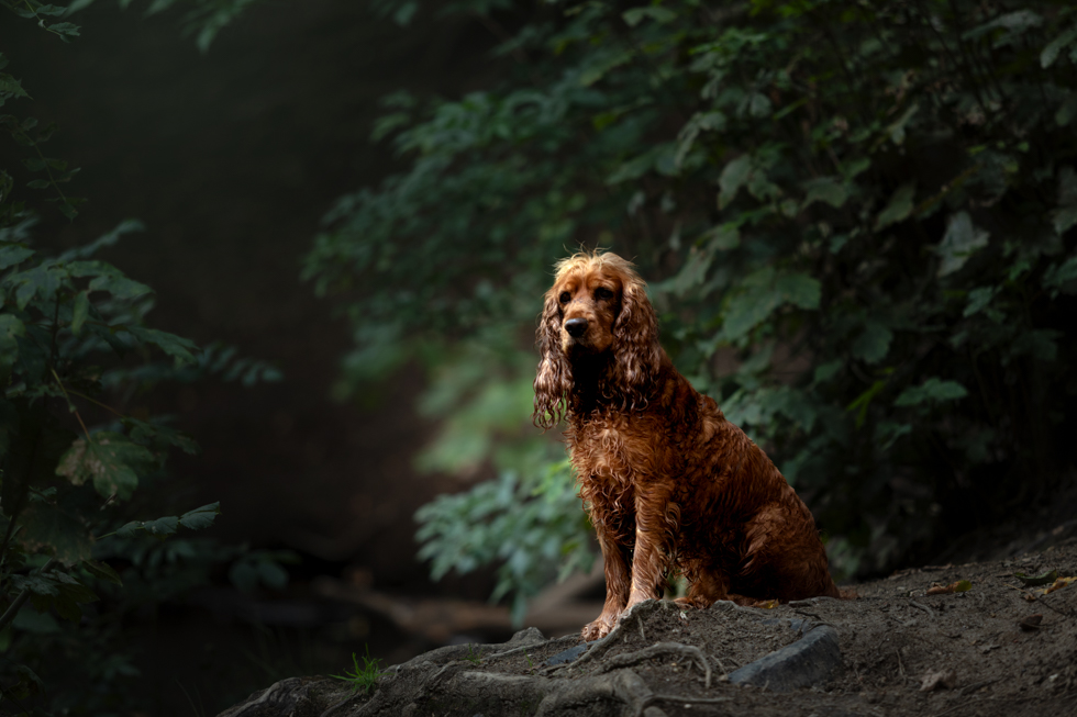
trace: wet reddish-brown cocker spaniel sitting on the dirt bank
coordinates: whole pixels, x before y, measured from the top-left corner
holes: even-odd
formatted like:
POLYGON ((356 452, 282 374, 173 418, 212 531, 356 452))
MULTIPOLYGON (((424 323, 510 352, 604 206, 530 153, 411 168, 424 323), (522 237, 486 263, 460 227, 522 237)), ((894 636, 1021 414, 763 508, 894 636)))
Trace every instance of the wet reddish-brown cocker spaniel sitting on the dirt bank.
POLYGON ((645 284, 615 254, 557 265, 537 332, 534 421, 568 421, 580 497, 606 561, 607 635, 681 572, 680 602, 839 597, 815 522, 766 453, 677 372, 645 284))

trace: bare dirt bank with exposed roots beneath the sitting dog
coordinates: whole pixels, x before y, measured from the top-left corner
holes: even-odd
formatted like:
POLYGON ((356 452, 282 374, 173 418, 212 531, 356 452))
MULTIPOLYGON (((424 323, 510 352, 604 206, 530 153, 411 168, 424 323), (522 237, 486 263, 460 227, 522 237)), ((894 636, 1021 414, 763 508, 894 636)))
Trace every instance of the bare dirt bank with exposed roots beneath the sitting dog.
POLYGON ((577 639, 547 640, 531 629, 504 645, 428 652, 387 671, 370 695, 337 681, 293 680, 222 717, 1074 714, 1077 582, 1047 593, 1050 584, 1018 576, 1052 571, 1051 580, 1077 575, 1077 537, 1020 558, 900 571, 857 585, 848 601, 722 602, 706 610, 654 603, 622 620, 602 649, 568 664, 547 660, 577 639), (958 581, 968 590, 929 594, 958 581), (800 632, 790 625, 803 619, 837 631, 843 669, 834 679, 785 694, 726 681, 796 642, 800 632))

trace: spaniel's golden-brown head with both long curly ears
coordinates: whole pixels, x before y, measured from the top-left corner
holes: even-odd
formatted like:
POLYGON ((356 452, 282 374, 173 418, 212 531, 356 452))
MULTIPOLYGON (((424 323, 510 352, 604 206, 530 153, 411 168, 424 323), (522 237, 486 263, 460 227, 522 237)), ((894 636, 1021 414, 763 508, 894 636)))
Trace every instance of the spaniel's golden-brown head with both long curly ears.
POLYGON ((603 385, 596 386, 601 395, 624 407, 642 405, 660 351, 646 284, 615 254, 577 254, 556 271, 537 331, 535 424, 549 428, 564 416, 566 394, 576 389, 573 365, 580 361, 606 359, 603 385))

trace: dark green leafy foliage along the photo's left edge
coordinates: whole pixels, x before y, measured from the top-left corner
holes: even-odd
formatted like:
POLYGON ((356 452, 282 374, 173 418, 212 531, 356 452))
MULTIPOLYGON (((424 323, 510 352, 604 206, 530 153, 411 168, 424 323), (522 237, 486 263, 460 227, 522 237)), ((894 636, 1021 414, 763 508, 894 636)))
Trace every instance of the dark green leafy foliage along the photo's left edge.
MULTIPOLYGON (((78 35, 49 20, 68 9, 0 4, 62 40, 78 35)), ((0 72, 0 104, 29 98, 0 72)), ((165 380, 251 384, 279 373, 147 325, 152 290, 95 258, 138 222, 57 256, 35 248, 34 192, 49 190, 41 203, 75 219, 81 200, 62 184, 77 170, 42 153, 52 126, 8 114, 0 126, 27 150, 25 169, 45 177, 26 183, 30 201, 13 201, 16 182, 0 170, 0 703, 19 714, 131 712, 123 680, 138 670, 126 617, 206 584, 220 564, 231 563, 237 587, 279 587, 279 563, 293 559, 182 535, 210 527, 216 503, 144 519, 160 509, 169 451, 198 447, 138 401, 165 380)))

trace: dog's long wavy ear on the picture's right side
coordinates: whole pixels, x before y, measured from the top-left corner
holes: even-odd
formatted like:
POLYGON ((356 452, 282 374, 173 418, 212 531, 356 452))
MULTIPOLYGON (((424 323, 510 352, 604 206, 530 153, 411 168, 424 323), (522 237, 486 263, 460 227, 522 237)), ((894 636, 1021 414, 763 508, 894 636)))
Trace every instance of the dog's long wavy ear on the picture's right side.
POLYGON ((623 277, 621 312, 613 324, 612 379, 625 407, 646 405, 646 390, 658 371, 660 358, 658 317, 647 299, 645 284, 634 276, 623 277))

